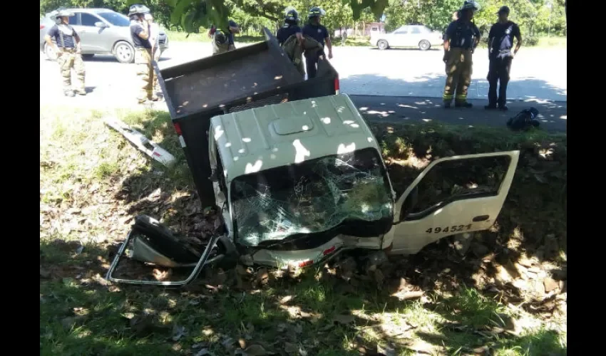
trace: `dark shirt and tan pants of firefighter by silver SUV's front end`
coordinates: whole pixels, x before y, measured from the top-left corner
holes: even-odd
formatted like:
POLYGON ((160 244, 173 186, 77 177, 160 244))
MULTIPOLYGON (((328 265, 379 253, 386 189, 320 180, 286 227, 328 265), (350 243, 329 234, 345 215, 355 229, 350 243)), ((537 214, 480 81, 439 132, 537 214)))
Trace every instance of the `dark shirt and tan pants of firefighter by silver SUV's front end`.
MULTIPOLYGON (((143 103, 145 100, 158 100, 153 93, 153 57, 152 46, 149 40, 139 37, 143 31, 143 24, 138 21, 130 21, 130 37, 135 46, 135 65, 137 66, 137 76, 140 79, 140 92, 137 100, 143 103)), ((147 33, 150 33, 148 26, 147 33)))

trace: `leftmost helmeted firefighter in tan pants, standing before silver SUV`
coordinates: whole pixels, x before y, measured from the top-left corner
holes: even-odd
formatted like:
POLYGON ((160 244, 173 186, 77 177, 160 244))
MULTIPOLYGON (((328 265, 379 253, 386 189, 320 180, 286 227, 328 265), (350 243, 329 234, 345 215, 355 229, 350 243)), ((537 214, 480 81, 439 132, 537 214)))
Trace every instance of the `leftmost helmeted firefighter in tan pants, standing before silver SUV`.
POLYGON ((58 9, 53 11, 49 16, 56 23, 48 30, 44 40, 46 46, 51 46, 57 53, 57 62, 61 68, 61 77, 63 77, 63 94, 68 97, 73 97, 74 93, 71 88, 71 69, 76 72, 76 93, 86 95, 84 88, 84 62, 82 61, 82 49, 80 36, 76 30, 69 25, 69 18, 74 16, 73 12, 66 9, 58 9), (53 43, 53 38, 56 45, 53 43))

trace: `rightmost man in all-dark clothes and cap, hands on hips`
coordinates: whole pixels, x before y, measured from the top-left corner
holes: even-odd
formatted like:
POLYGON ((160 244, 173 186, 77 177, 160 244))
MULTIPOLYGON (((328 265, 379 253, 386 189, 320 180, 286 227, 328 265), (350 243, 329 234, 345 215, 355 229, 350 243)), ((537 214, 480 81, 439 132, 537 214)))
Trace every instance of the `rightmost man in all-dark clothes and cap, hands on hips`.
POLYGON ((511 70, 511 61, 520 51, 522 46, 522 35, 520 27, 512 21, 509 21, 509 8, 501 6, 497 12, 498 22, 491 27, 488 33, 488 105, 486 110, 507 111, 507 83, 509 83, 509 72, 511 70), (513 38, 518 43, 513 52, 513 38), (498 98, 497 98, 497 82, 498 98))

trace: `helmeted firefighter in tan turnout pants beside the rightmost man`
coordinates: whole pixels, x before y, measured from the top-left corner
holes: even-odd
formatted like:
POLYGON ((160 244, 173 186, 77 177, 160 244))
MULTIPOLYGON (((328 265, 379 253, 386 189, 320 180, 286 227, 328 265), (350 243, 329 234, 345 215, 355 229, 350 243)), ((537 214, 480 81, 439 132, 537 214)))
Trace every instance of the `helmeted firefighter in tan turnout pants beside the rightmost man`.
POLYGON ((451 107, 453 96, 456 108, 473 107, 467 102, 467 89, 471 84, 471 55, 480 41, 480 30, 471 21, 473 13, 478 9, 476 1, 466 0, 459 9, 459 19, 452 21, 446 28, 443 58, 446 63, 446 85, 442 96, 444 108, 451 107))

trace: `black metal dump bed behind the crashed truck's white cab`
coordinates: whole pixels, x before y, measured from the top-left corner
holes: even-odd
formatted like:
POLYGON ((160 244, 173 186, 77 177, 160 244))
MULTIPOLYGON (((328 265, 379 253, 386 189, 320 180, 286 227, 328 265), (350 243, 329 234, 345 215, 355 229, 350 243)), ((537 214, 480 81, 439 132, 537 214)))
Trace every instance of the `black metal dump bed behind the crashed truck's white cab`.
POLYGON ((202 206, 215 205, 208 152, 212 117, 338 93, 339 75, 329 61, 319 61, 317 77, 304 80, 272 33, 264 32, 262 43, 155 68, 202 206))

